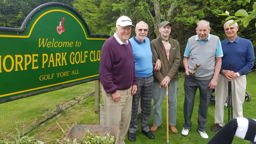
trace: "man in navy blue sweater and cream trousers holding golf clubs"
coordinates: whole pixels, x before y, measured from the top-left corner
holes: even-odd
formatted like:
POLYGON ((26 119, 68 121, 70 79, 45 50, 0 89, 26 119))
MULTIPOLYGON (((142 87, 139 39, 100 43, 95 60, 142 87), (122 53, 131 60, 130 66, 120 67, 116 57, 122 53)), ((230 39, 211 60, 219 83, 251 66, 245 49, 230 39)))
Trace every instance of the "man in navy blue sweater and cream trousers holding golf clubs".
POLYGON ((227 39, 221 41, 223 57, 215 88, 215 124, 212 131, 219 131, 223 126, 224 104, 228 97, 228 82, 232 81, 232 105, 233 117, 243 117, 243 102, 245 98, 246 77, 245 74, 252 69, 254 64, 254 52, 250 40, 237 36, 237 23, 229 26, 234 20, 224 24, 227 39), (232 71, 229 70, 232 64, 232 71))

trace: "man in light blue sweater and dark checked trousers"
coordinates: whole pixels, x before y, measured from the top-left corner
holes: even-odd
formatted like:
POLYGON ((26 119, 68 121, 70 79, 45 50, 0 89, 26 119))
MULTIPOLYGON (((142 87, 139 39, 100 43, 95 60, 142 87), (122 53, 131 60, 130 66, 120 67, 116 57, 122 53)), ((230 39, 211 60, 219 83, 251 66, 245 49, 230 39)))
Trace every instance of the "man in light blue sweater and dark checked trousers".
MULTIPOLYGON (((138 127, 138 106, 141 106, 141 132, 148 138, 154 139, 155 136, 149 130, 149 118, 151 115, 151 100, 153 94, 153 64, 152 52, 150 49, 148 34, 148 24, 140 21, 136 24, 135 33, 130 40, 135 62, 135 72, 139 85, 137 92, 132 97, 132 116, 129 125, 128 140, 135 141, 135 133, 138 127)), ((154 70, 161 68, 160 60, 157 61, 154 70)))

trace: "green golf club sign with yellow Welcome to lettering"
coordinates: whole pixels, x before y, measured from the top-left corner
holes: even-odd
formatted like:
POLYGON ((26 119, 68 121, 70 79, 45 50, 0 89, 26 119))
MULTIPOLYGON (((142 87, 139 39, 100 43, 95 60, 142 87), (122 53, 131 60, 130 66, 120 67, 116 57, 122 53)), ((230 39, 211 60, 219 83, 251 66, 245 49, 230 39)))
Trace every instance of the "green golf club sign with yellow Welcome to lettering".
POLYGON ((99 77, 107 38, 61 3, 37 7, 21 28, 1 27, 0 100, 99 77))

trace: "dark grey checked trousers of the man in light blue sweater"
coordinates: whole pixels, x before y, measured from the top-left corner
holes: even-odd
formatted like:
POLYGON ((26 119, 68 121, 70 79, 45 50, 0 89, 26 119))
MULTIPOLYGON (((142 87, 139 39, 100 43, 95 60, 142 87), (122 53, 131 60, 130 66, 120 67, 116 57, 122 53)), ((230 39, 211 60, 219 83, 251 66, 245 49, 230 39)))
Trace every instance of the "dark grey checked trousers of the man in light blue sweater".
POLYGON ((151 115, 151 101, 153 92, 153 75, 148 77, 137 77, 139 85, 137 92, 132 97, 132 116, 129 125, 129 132, 136 133, 138 128, 138 107, 140 101, 141 107, 141 130, 144 132, 149 131, 149 118, 151 115))

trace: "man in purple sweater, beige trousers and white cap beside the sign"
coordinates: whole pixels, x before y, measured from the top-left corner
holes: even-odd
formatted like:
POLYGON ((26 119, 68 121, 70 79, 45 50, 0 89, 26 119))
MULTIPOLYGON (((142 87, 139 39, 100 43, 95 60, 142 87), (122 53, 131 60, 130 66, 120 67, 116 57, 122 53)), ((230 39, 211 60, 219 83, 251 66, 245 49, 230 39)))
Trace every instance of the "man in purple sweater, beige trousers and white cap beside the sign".
MULTIPOLYGON (((131 35, 132 20, 121 16, 116 21, 116 33, 102 46, 100 57, 100 81, 102 99, 108 125, 120 129, 118 144, 124 144, 132 113, 132 95, 137 92, 131 35)), ((134 27, 135 28, 135 27, 134 27)))

